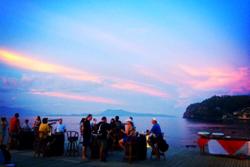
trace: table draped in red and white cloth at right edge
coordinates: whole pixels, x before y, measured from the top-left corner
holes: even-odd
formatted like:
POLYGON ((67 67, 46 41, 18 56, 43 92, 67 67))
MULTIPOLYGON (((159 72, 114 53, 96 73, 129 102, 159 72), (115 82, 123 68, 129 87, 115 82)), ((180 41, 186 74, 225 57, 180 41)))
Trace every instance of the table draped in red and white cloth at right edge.
POLYGON ((250 140, 241 138, 226 138, 214 136, 199 136, 198 145, 201 152, 205 152, 205 146, 209 154, 250 156, 250 140))

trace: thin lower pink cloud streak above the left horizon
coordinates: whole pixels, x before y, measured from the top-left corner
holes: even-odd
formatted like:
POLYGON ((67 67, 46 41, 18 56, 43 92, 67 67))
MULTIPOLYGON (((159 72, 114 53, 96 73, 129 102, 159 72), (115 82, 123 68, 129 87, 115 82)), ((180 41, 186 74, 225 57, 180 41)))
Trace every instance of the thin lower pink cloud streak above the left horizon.
POLYGON ((70 93, 64 93, 64 92, 48 92, 48 91, 31 90, 30 93, 34 95, 50 96, 50 97, 56 97, 56 98, 62 98, 62 99, 77 100, 77 101, 82 101, 82 102, 94 102, 94 103, 104 103, 104 104, 114 104, 114 105, 121 104, 120 102, 117 102, 112 99, 104 98, 104 97, 81 96, 77 94, 70 94, 70 93))

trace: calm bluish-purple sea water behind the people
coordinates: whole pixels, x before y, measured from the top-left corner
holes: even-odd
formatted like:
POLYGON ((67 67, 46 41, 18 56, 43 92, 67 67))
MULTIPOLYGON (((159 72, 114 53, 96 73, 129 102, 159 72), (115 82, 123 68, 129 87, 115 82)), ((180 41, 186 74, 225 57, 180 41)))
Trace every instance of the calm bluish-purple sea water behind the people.
MULTIPOLYGON (((59 117, 49 117, 49 119, 57 119, 59 117)), ((66 125, 67 130, 79 131, 79 125, 81 117, 79 116, 64 116, 61 117, 63 123, 66 125)), ((97 121, 100 120, 100 117, 97 121)), ((31 123, 34 118, 30 117, 31 123)), ((126 120, 127 117, 120 117, 121 121, 126 120)), ((145 132, 147 129, 151 129, 151 117, 134 117, 134 123, 138 132, 145 132)), ((109 122, 110 118, 108 118, 109 122)), ((198 131, 210 131, 210 132, 223 132, 225 135, 236 137, 249 137, 250 125, 249 123, 204 123, 194 122, 183 118, 157 118, 164 137, 167 139, 170 145, 182 146, 187 144, 196 144, 198 131)))

